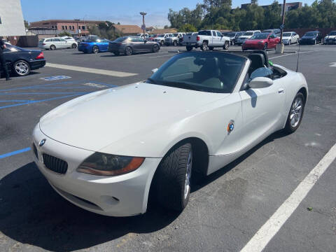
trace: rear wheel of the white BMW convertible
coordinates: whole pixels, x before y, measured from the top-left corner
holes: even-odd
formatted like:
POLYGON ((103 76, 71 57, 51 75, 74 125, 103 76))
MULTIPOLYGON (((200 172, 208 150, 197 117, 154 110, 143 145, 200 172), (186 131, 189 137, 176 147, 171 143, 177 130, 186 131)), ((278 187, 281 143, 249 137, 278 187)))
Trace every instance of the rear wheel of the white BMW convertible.
POLYGON ((304 95, 301 92, 298 92, 295 95, 295 98, 293 99, 292 105, 290 106, 286 126, 284 128, 286 132, 291 134, 295 132, 295 130, 297 130, 297 128, 300 126, 304 112, 304 105, 305 105, 304 95), (301 104, 298 104, 298 101, 300 101, 301 104))

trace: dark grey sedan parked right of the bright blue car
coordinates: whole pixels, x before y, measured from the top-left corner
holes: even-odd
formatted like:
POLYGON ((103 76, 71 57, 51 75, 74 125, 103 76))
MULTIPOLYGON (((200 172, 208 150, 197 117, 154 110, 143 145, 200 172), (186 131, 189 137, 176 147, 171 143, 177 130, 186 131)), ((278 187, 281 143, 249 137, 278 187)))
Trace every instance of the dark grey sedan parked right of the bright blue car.
POLYGON ((158 52, 159 50, 159 43, 146 41, 136 36, 123 36, 109 43, 109 52, 115 55, 120 55, 120 53, 132 55, 135 52, 158 52))

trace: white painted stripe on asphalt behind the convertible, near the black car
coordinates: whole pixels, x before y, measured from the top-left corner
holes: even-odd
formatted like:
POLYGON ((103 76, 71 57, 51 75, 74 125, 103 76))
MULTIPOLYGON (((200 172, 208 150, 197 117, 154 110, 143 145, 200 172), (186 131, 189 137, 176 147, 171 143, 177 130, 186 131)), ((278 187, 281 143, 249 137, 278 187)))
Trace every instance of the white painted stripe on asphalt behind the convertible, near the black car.
POLYGON ((138 74, 138 73, 126 73, 126 72, 122 72, 122 71, 92 69, 92 68, 82 67, 82 66, 69 66, 69 65, 64 65, 64 64, 53 64, 53 63, 47 63, 47 64, 45 64, 45 66, 55 67, 55 68, 58 68, 58 69, 82 71, 82 72, 85 72, 85 73, 96 73, 96 74, 102 74, 102 75, 107 75, 107 76, 115 76, 115 77, 136 76, 138 74))

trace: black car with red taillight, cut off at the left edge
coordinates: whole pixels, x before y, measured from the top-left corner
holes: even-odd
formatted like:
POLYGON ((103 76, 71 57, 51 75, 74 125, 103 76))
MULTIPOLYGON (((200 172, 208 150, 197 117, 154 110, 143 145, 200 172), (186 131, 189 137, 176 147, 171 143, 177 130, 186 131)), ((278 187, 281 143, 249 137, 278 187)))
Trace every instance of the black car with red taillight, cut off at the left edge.
POLYGON ((15 73, 17 76, 27 76, 31 70, 45 66, 45 59, 41 50, 25 50, 6 43, 3 55, 8 71, 15 73))

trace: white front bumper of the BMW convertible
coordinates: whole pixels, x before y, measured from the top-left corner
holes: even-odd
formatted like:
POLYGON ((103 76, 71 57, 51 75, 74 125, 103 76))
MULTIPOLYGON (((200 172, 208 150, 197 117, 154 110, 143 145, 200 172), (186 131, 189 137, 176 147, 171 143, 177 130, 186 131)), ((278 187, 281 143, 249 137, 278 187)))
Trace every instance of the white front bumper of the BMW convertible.
POLYGON ((34 128, 33 143, 37 149, 38 158, 33 156, 38 169, 52 188, 69 202, 106 216, 134 216, 146 212, 151 181, 161 158, 146 158, 141 167, 128 174, 94 176, 76 172, 80 163, 94 152, 50 139, 41 132, 39 125, 34 128), (38 146, 42 139, 46 139, 45 144, 38 146), (45 167, 43 153, 66 161, 66 173, 57 174, 45 167))

